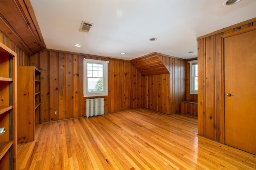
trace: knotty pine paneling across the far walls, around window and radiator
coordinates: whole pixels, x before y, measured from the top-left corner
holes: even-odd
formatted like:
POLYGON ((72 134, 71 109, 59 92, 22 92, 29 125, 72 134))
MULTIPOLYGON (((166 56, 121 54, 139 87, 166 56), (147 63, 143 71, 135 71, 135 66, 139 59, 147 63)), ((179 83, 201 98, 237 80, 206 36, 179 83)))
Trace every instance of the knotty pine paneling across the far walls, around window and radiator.
POLYGON ((186 61, 160 57, 171 74, 142 76, 130 61, 63 51, 44 50, 31 56, 30 64, 42 70, 42 122, 85 114, 84 58, 109 61, 105 113, 140 107, 166 114, 180 113, 180 101, 185 99, 186 91, 186 61))

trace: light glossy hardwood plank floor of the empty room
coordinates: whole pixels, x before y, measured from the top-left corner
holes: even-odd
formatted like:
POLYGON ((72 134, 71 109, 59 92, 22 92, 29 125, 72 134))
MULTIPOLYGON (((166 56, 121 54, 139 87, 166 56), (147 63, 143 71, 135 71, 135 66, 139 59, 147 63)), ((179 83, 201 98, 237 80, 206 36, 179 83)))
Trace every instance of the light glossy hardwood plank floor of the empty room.
POLYGON ((197 136, 197 118, 132 109, 36 125, 18 169, 256 169, 256 155, 197 136))

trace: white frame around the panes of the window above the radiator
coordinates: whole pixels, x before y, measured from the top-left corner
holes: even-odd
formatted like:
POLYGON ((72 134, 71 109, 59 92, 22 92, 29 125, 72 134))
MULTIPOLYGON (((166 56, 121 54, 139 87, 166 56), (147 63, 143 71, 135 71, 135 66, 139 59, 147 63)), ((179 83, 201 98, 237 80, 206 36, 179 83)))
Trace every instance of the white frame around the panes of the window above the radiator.
POLYGON ((108 96, 108 61, 84 58, 84 97, 108 96), (88 92, 87 63, 103 64, 103 92, 88 92))

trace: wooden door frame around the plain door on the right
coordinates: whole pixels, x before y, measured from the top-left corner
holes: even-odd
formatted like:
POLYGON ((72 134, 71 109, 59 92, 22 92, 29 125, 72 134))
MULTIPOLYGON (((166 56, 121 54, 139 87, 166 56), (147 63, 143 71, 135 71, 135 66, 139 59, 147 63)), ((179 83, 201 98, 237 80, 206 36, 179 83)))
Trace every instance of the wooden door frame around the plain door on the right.
POLYGON ((227 33, 227 34, 223 34, 220 36, 221 38, 221 81, 220 81, 220 91, 221 91, 221 96, 220 96, 220 143, 222 144, 226 144, 225 141, 225 75, 224 75, 224 39, 228 38, 228 37, 232 37, 234 35, 239 35, 242 33, 246 33, 249 31, 253 31, 256 29, 256 25, 250 26, 250 27, 246 27, 244 29, 239 29, 237 31, 233 31, 231 33, 227 33))

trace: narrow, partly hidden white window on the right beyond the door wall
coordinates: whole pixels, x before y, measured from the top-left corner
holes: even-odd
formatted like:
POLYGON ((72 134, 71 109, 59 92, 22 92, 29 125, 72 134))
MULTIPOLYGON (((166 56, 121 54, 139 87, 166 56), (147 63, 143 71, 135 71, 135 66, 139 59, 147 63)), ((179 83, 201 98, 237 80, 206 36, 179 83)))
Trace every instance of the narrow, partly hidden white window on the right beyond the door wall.
POLYGON ((189 62, 190 65, 190 94, 197 94, 198 91, 198 64, 197 60, 189 62))

